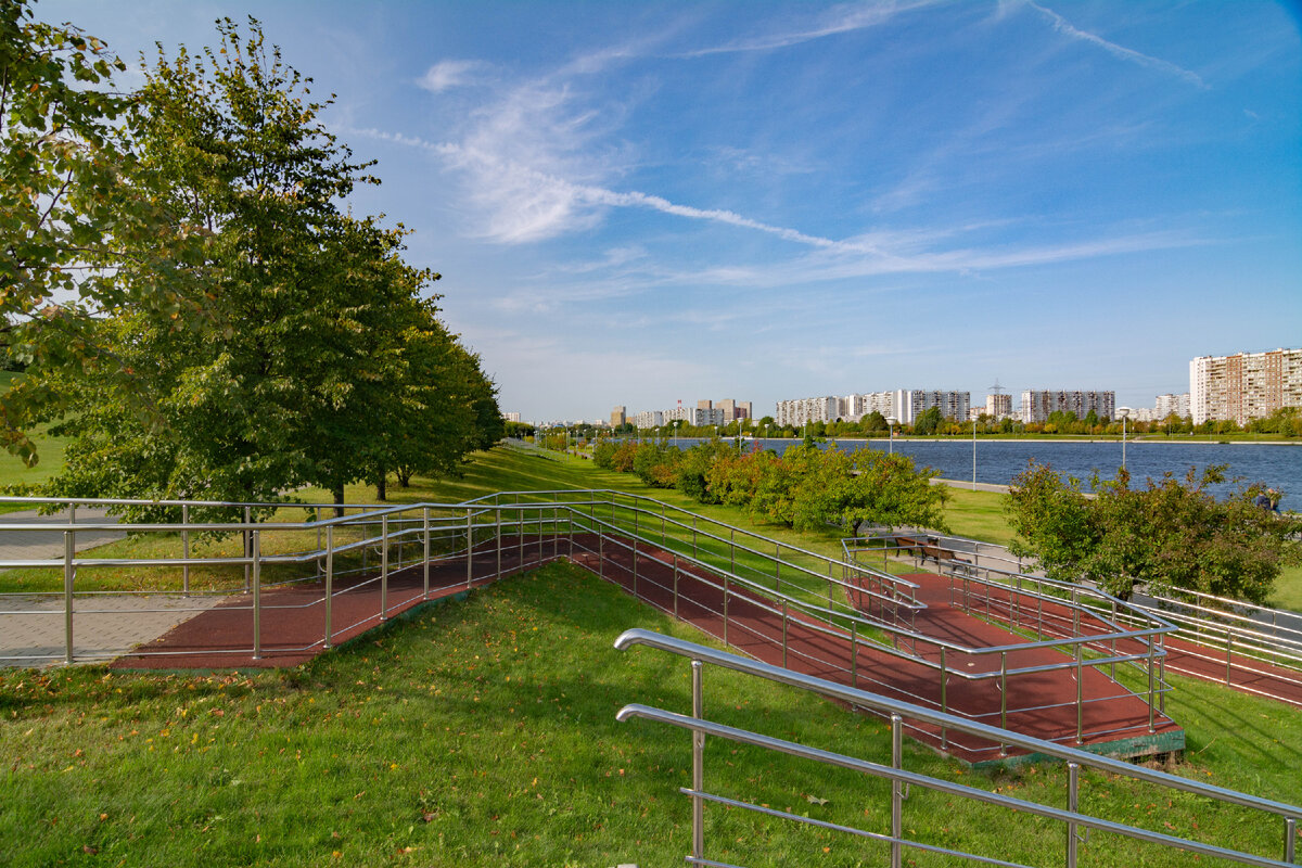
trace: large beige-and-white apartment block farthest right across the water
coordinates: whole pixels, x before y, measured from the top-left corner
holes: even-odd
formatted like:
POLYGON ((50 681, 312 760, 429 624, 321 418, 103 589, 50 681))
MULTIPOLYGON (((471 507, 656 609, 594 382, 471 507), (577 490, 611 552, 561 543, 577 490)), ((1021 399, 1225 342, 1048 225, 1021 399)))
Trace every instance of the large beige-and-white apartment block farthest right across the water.
POLYGON ((1298 406, 1302 349, 1203 355, 1189 363, 1189 413, 1195 426, 1208 419, 1245 424, 1298 406))

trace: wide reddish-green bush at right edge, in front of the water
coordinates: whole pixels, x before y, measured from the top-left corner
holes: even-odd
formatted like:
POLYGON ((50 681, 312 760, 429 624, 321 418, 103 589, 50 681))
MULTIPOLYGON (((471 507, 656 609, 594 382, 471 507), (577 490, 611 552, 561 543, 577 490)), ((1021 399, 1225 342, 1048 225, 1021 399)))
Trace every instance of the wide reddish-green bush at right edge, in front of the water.
POLYGON ((1083 578, 1121 599, 1146 586, 1266 603, 1281 570, 1302 562, 1302 522, 1255 505, 1259 485, 1217 500, 1207 488, 1225 481, 1224 471, 1190 468, 1184 479, 1131 487, 1122 468, 1112 481, 1094 480, 1098 493, 1087 497, 1079 480, 1032 462, 1009 491, 1010 549, 1052 579, 1083 578))

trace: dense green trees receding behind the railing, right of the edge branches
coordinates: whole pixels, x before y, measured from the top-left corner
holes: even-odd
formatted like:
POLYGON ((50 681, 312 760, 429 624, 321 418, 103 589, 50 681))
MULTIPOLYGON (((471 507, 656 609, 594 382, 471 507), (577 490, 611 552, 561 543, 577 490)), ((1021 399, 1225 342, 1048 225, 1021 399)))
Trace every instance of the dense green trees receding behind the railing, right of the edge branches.
POLYGON ((421 301, 437 276, 402 260, 401 229, 341 212, 366 167, 256 22, 247 35, 220 22, 219 35, 147 70, 138 172, 174 219, 121 268, 133 285, 202 292, 202 315, 109 311, 96 337, 116 364, 64 384, 78 440, 52 488, 268 501, 318 484, 341 498, 350 481, 445 467, 500 413, 478 360, 421 301), (150 400, 122 400, 118 371, 150 400))

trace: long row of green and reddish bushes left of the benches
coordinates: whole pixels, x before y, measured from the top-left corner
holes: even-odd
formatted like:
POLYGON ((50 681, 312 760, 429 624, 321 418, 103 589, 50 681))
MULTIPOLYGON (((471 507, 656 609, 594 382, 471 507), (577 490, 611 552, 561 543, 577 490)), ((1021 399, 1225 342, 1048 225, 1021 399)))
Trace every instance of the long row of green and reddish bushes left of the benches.
POLYGON ((686 450, 664 441, 603 440, 592 457, 599 467, 637 474, 648 485, 677 488, 702 504, 740 506, 754 518, 796 530, 828 524, 852 535, 866 524, 947 530, 948 491, 931 484, 934 470, 914 467, 904 454, 845 453, 806 442, 779 457, 773 450, 741 452, 723 440, 686 450))

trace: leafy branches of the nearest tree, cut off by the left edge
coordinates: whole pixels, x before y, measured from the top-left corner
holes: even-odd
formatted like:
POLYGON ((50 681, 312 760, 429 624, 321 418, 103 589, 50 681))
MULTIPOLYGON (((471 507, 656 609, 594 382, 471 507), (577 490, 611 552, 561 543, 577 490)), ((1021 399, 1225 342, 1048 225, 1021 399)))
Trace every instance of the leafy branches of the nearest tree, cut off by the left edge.
POLYGON ((203 301, 184 284, 120 278, 130 249, 152 255, 167 221, 137 174, 134 100, 112 83, 122 69, 95 36, 0 0, 0 320, 7 354, 30 373, 0 396, 0 440, 29 463, 23 429, 65 401, 46 375, 111 363, 96 315, 128 301, 165 315, 203 301))

